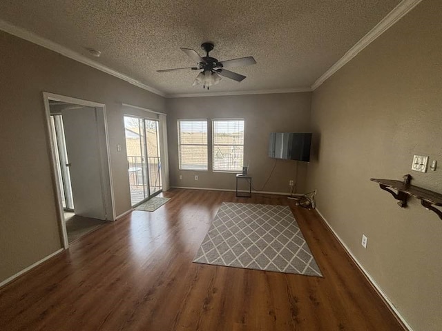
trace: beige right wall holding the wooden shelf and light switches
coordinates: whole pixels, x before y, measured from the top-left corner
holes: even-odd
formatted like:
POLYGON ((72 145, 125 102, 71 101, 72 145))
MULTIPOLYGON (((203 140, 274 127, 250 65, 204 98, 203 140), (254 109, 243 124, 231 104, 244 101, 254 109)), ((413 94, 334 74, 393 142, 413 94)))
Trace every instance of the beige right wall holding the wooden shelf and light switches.
POLYGON ((318 209, 416 331, 442 330, 442 220, 369 179, 410 173, 442 192, 442 168, 410 169, 413 154, 442 165, 441 17, 441 1, 423 1, 312 97, 318 209))

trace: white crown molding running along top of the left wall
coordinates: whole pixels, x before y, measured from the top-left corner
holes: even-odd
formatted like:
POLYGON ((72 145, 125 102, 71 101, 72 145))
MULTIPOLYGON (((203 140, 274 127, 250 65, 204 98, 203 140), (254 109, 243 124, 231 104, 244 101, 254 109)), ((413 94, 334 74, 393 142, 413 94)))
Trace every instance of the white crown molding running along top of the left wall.
POLYGON ((138 88, 142 88, 143 90, 158 94, 162 97, 166 96, 164 92, 161 92, 160 90, 157 90, 155 88, 151 88, 151 86, 147 86, 146 84, 141 83, 136 79, 128 77, 126 74, 122 74, 121 72, 118 72, 107 66, 104 66, 101 63, 98 63, 97 61, 93 61, 92 59, 89 59, 84 55, 81 55, 73 50, 70 50, 69 48, 61 46, 59 43, 55 43, 53 41, 50 41, 49 39, 40 37, 33 32, 30 32, 23 28, 19 28, 18 26, 15 26, 7 21, 3 21, 2 19, 0 19, 0 30, 8 32, 9 34, 13 34, 21 39, 30 41, 31 43, 36 43, 37 45, 42 46, 44 48, 48 48, 48 50, 52 50, 61 55, 64 55, 65 57, 86 64, 86 66, 90 66, 102 72, 106 72, 106 74, 111 74, 112 76, 122 79, 123 81, 127 81, 128 83, 131 83, 132 85, 137 86, 138 88))

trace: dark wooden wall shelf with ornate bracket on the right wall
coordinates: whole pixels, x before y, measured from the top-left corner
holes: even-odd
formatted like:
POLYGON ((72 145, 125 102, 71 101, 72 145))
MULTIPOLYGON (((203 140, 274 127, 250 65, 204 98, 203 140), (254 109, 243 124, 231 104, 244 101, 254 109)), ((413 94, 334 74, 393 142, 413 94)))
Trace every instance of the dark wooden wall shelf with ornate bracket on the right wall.
POLYGON ((394 199, 398 200, 398 205, 402 208, 407 207, 408 197, 415 197, 416 199, 421 200, 421 204, 425 208, 432 210, 432 212, 435 212, 439 218, 442 219, 442 210, 434 207, 434 205, 442 206, 442 194, 411 185, 410 181, 412 177, 410 174, 405 174, 403 179, 403 181, 396 181, 394 179, 372 178, 370 181, 378 183, 381 189, 392 194, 394 199), (391 189, 396 190, 397 193, 391 189))

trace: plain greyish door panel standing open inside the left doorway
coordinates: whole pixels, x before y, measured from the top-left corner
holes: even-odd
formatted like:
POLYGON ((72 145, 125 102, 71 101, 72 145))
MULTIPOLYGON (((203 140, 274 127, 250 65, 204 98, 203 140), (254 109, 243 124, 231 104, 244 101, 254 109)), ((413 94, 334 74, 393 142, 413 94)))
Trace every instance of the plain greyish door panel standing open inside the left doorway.
POLYGON ((74 212, 106 219, 100 160, 97 110, 91 107, 62 110, 74 212))

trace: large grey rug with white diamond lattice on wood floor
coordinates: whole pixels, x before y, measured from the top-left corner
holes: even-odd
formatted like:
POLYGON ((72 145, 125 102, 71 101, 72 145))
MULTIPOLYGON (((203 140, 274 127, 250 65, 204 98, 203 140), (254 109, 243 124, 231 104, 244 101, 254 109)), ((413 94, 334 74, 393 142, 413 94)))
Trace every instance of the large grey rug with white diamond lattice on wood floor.
POLYGON ((287 205, 223 202, 193 262, 322 277, 287 205))

